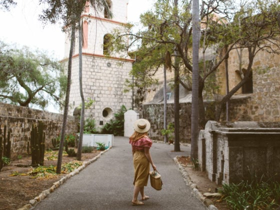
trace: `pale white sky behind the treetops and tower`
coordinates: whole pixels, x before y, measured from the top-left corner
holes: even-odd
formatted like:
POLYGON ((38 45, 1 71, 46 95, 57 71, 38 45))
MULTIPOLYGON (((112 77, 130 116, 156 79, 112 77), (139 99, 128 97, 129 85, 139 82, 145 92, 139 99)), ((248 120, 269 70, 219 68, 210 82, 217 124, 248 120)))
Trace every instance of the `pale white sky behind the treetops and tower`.
MULTIPOLYGON (((44 28, 38 20, 41 11, 38 0, 15 0, 17 5, 10 11, 0 10, 0 40, 31 48, 39 48, 63 58, 64 33, 59 25, 47 24, 44 28)), ((138 22, 139 15, 151 8, 155 0, 129 0, 128 21, 138 22)))

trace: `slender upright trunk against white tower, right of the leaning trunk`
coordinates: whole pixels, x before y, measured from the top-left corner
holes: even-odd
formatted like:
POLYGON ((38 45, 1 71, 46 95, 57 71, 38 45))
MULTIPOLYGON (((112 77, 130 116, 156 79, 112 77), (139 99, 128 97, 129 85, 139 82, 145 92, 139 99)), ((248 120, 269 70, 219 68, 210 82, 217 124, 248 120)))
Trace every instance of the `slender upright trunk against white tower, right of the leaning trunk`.
MULTIPOLYGON (((82 19, 81 19, 82 21, 82 19)), ((82 27, 79 21, 79 93, 81 98, 81 111, 80 111, 80 126, 79 126, 79 142, 77 149, 77 160, 81 160, 81 147, 83 137, 83 123, 84 123, 84 97, 82 91, 82 27)))

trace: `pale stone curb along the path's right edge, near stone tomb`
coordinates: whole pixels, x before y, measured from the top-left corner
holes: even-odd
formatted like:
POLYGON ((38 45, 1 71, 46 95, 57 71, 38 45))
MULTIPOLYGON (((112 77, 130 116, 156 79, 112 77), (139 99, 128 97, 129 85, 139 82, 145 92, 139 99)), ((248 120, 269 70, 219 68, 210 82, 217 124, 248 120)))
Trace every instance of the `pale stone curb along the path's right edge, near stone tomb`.
POLYGON ((190 186, 192 188, 192 194, 194 194, 195 197, 197 197, 208 209, 210 210, 217 210, 217 207, 214 206, 212 200, 205 198, 201 192, 197 189, 197 185, 193 183, 187 173, 187 171, 184 169, 184 167, 179 163, 177 160, 177 157, 174 157, 173 160, 177 164, 179 171, 181 172, 183 179, 185 181, 185 184, 190 186))

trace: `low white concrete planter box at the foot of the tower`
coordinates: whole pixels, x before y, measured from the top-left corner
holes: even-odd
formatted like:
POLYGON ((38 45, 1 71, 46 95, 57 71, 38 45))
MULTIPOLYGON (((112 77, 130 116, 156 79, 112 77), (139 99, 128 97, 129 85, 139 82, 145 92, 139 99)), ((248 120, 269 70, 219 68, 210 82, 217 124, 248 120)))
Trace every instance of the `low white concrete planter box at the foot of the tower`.
MULTIPOLYGON (((79 133, 76 133, 79 138, 79 133)), ((112 134, 83 134, 82 135, 82 145, 83 146, 94 146, 97 147, 97 143, 104 143, 105 146, 113 146, 114 135, 112 134)))

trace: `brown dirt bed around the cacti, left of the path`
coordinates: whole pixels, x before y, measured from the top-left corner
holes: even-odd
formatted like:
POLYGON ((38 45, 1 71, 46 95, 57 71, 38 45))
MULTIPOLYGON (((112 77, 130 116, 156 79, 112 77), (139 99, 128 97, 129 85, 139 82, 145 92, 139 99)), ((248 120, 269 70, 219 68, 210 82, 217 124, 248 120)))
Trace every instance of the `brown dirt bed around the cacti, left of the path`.
MULTIPOLYGON (((100 153, 99 150, 93 150, 91 153, 82 153, 81 160, 87 161, 100 153)), ((45 155, 46 157, 46 155, 45 155)), ((76 160, 76 157, 64 156, 62 163, 76 160)), ((56 165, 57 160, 44 159, 44 166, 56 165)), ((9 176, 14 171, 18 173, 27 173, 31 167, 18 167, 16 165, 30 165, 31 157, 24 156, 21 159, 12 160, 0 171, 0 209, 17 209, 27 204, 30 199, 38 196, 43 190, 50 188, 53 183, 59 180, 65 174, 59 174, 55 178, 36 179, 30 175, 9 176)))

